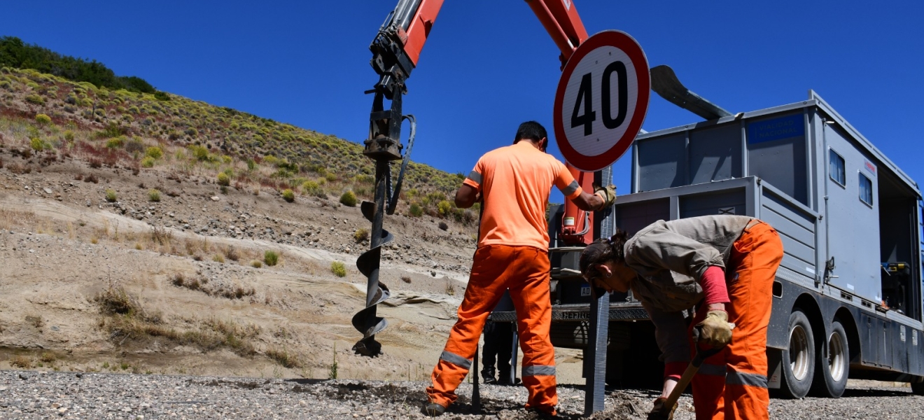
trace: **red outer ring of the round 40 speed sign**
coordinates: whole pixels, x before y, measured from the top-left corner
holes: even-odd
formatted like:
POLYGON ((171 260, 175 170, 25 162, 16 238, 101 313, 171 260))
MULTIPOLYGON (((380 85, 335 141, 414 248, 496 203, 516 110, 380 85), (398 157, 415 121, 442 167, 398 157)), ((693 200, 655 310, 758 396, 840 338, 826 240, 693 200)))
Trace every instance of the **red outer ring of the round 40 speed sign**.
POLYGON ((616 162, 626 150, 632 146, 632 142, 638 136, 638 130, 645 121, 645 114, 648 112, 648 102, 651 91, 651 75, 648 69, 648 59, 645 52, 641 50, 638 42, 626 32, 620 30, 604 30, 588 38, 588 40, 577 46, 575 53, 568 59, 568 63, 562 70, 562 78, 558 80, 558 90, 555 91, 555 104, 553 107, 553 125, 555 129, 555 144, 558 150, 562 151, 565 161, 571 163, 577 169, 584 172, 599 171, 611 163, 616 162), (636 100, 635 112, 632 114, 632 121, 626 128, 626 133, 622 138, 616 140, 616 144, 609 150, 596 156, 584 156, 571 147, 565 136, 565 126, 562 121, 562 106, 565 102, 565 88, 567 81, 574 73, 577 63, 581 61, 591 51, 602 46, 613 46, 622 50, 629 59, 632 60, 632 66, 635 68, 636 77, 638 78, 638 99, 636 100))

